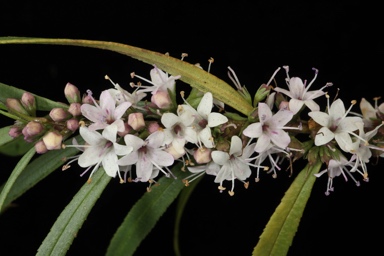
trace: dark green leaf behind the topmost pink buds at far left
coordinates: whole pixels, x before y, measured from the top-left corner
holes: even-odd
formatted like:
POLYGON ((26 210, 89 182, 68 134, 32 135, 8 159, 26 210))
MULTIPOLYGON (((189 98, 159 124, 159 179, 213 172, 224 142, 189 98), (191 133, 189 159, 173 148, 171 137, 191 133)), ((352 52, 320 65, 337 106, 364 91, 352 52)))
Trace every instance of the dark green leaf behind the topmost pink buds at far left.
MULTIPOLYGON (((19 88, 13 87, 13 86, 0 83, 0 92, 1 92, 0 102, 5 103, 7 98, 21 99, 21 96, 23 95, 25 90, 21 90, 19 88)), ((64 89, 63 89, 63 93, 64 93, 64 89)), ((33 95, 35 96, 37 110, 50 111, 52 108, 55 108, 55 107, 65 108, 65 109, 68 108, 68 105, 66 105, 64 103, 52 101, 52 100, 49 100, 47 98, 44 98, 44 97, 41 97, 41 96, 38 96, 35 94, 33 94, 33 95)))

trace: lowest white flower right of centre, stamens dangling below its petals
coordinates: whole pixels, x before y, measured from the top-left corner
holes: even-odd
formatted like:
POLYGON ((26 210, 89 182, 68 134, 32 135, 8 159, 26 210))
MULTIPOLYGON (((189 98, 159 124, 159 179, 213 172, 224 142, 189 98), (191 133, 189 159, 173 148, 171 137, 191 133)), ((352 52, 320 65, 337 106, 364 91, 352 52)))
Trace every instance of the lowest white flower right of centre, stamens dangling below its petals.
MULTIPOLYGON (((244 149, 243 143, 238 136, 232 136, 231 147, 229 153, 224 151, 213 151, 212 160, 221 166, 219 172, 216 175, 215 182, 220 183, 219 189, 222 191, 224 180, 232 181, 232 188, 229 192, 231 196, 234 195, 233 189, 235 186, 235 179, 240 181, 246 180, 251 175, 251 169, 249 166, 249 160, 247 160, 253 154, 253 145, 249 145, 244 149)), ((247 183, 246 187, 247 187, 247 183)))

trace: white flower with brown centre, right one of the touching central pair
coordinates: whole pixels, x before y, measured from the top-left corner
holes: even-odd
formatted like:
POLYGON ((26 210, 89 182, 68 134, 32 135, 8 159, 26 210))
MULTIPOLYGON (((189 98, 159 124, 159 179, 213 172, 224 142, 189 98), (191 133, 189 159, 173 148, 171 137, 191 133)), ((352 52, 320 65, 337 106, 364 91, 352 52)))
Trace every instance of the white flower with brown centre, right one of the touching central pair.
POLYGON ((211 134, 211 128, 228 122, 228 118, 220 113, 211 112, 213 108, 212 93, 206 92, 202 97, 197 110, 190 105, 181 105, 181 111, 189 111, 194 119, 193 127, 197 133, 198 146, 201 147, 201 142, 207 148, 213 148, 214 141, 211 134))

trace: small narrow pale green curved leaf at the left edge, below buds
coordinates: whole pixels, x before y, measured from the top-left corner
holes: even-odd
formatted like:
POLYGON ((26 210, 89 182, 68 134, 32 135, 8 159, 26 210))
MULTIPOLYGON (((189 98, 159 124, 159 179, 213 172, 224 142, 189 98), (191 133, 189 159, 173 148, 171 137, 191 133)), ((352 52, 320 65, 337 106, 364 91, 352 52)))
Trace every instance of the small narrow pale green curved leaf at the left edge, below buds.
POLYGON ((4 185, 4 188, 0 193, 0 212, 3 208, 4 201, 8 196, 9 191, 14 186, 16 179, 19 177, 20 173, 24 170, 24 168, 28 165, 29 161, 31 161, 32 157, 35 155, 35 148, 31 148, 17 163, 15 169, 13 169, 11 175, 9 176, 7 182, 4 185))

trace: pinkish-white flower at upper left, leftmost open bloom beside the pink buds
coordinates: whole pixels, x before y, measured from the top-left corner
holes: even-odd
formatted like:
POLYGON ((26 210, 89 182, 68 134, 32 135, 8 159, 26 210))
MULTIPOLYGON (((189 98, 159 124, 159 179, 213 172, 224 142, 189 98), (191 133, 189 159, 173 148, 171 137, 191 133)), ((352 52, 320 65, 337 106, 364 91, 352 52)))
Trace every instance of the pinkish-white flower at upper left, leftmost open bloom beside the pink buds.
MULTIPOLYGON (((88 91, 89 96, 91 92, 88 91)), ((91 131, 104 129, 114 121, 121 119, 125 111, 132 105, 130 102, 123 102, 116 106, 116 101, 113 99, 111 93, 105 90, 100 95, 99 104, 91 97, 94 105, 83 104, 81 105, 82 114, 93 123, 89 126, 91 131)), ((118 127, 118 131, 124 131, 124 124, 118 127)))

